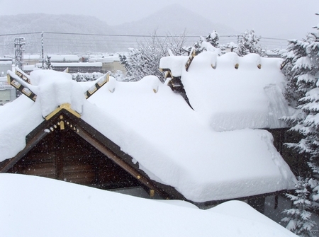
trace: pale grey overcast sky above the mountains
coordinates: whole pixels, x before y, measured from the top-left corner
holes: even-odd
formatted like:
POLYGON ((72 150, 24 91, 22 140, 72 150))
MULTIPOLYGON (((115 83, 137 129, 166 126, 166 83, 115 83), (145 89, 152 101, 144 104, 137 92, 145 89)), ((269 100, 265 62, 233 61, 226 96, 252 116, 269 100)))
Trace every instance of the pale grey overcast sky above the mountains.
POLYGON ((315 16, 319 0, 0 0, 0 14, 82 14, 117 25, 138 21, 170 4, 180 4, 240 32, 254 29, 263 37, 304 37, 319 23, 315 16))

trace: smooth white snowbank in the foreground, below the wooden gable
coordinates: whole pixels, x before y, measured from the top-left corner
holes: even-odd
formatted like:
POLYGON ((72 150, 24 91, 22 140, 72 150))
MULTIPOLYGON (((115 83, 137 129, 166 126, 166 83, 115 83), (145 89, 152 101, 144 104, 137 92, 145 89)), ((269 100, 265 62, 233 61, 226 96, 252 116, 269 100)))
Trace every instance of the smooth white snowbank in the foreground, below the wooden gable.
POLYGON ((0 174, 1 236, 295 236, 244 202, 208 210, 0 174))

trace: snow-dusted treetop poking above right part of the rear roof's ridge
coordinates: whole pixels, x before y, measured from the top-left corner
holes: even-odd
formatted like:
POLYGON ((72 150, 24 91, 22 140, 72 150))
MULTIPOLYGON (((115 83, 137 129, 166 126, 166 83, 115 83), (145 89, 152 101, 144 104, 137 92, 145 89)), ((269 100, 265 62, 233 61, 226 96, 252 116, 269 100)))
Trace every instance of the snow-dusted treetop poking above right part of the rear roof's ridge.
POLYGON ((250 32, 245 31, 242 35, 238 36, 238 43, 235 52, 238 56, 245 56, 246 54, 255 53, 264 56, 262 47, 258 45, 260 37, 254 34, 254 30, 250 32))

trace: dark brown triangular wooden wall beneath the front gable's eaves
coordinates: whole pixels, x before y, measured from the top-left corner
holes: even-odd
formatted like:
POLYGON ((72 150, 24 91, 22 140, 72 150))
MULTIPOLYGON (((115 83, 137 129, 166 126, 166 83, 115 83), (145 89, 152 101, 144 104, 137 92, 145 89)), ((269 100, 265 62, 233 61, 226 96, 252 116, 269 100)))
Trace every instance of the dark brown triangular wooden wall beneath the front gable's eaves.
POLYGON ((71 129, 56 129, 21 158, 9 173, 38 175, 103 189, 140 186, 71 129))

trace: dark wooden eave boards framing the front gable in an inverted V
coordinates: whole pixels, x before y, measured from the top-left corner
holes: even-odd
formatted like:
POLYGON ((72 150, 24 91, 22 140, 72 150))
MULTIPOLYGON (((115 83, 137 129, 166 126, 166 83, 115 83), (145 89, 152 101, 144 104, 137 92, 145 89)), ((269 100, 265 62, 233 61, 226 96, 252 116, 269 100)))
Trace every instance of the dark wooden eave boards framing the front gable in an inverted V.
MULTIPOLYGON (((110 139, 103 136, 99 131, 91 127, 89 124, 84 122, 81 118, 74 115, 73 112, 65 108, 61 108, 56 111, 54 115, 50 116, 50 119, 43 121, 38 127, 33 129, 26 136, 26 146, 20 151, 16 156, 10 158, 2 163, 0 166, 0 173, 6 173, 10 168, 12 168, 23 156, 26 156, 28 151, 30 151, 39 141, 41 141, 47 134, 49 134, 48 129, 55 125, 55 129, 60 129, 57 127, 57 123, 61 120, 61 117, 68 121, 69 125, 72 125, 73 132, 82 137, 91 146, 94 146, 106 157, 110 158, 114 163, 123 168, 126 172, 130 173, 134 178, 140 181, 142 185, 147 187, 149 190, 154 190, 159 196, 164 199, 174 199, 174 200, 186 200, 186 198, 181 195, 174 187, 163 185, 151 180, 145 172, 138 168, 138 163, 132 162, 132 157, 125 152, 121 151, 121 147, 113 143, 110 139)), ((54 131, 53 131, 54 132, 54 131)))

